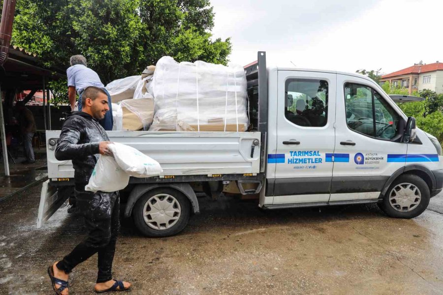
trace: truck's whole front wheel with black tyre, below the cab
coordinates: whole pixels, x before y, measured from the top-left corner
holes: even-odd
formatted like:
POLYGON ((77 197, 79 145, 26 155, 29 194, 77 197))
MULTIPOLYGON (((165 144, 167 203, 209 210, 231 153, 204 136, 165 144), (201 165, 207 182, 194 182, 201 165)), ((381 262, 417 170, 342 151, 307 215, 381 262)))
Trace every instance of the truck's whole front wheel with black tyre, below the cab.
POLYGON ((430 198, 429 187, 421 177, 405 174, 392 182, 380 208, 390 217, 413 218, 423 213, 430 198))

